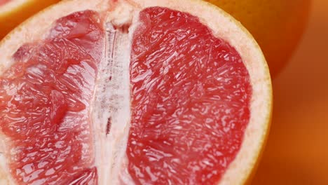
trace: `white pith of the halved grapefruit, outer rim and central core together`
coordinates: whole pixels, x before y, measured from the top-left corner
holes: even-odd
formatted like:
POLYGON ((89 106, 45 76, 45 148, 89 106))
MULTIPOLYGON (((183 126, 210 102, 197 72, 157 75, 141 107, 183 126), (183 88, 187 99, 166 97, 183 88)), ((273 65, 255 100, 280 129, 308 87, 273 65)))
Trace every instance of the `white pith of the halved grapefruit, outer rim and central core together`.
MULTIPOLYGON (((17 0, 18 1, 18 0, 17 0)), ((76 11, 94 10, 102 13, 109 22, 107 26, 107 46, 114 41, 113 56, 111 60, 108 48, 100 64, 100 75, 97 76, 95 97, 91 108, 93 129, 95 133, 95 165, 97 165, 99 184, 119 184, 123 181, 130 183, 130 177, 125 170, 128 160, 125 148, 128 139, 130 123, 130 80, 129 62, 132 33, 138 23, 139 11, 146 7, 163 6, 177 11, 188 12, 200 18, 201 22, 212 29, 214 36, 222 38, 233 46, 242 57, 250 73, 253 88, 250 123, 245 131, 245 139, 240 152, 226 170, 219 184, 242 184, 249 176, 254 164, 257 162, 259 151, 264 142, 271 116, 271 81, 264 57, 257 43, 247 31, 240 29, 240 25, 230 16, 218 8, 210 6, 199 0, 118 0, 117 4, 109 0, 63 1, 48 11, 39 13, 32 20, 18 27, 2 43, 0 43, 0 75, 13 64, 11 56, 22 43, 43 39, 51 24, 65 15, 76 11), (114 30, 110 23, 120 27, 130 25, 129 33, 114 30), (35 29, 38 25, 38 29, 35 29), (116 39, 109 34, 116 32, 116 39), (115 42, 116 40, 116 42, 115 42), (120 40, 120 41, 118 41, 120 40), (118 44, 119 43, 119 44, 118 44), (111 67, 108 68, 108 61, 111 67), (123 74, 123 75, 121 75, 123 74), (111 81, 108 81, 111 76, 111 81), (107 91, 103 91, 107 89, 107 91), (108 118, 111 118, 111 131, 106 134, 108 118), (114 158, 115 156, 115 158, 114 158), (114 165, 115 164, 115 165, 114 165)), ((4 152, 4 148, 1 149, 4 152)), ((0 156, 0 184, 13 184, 5 158, 0 156)))

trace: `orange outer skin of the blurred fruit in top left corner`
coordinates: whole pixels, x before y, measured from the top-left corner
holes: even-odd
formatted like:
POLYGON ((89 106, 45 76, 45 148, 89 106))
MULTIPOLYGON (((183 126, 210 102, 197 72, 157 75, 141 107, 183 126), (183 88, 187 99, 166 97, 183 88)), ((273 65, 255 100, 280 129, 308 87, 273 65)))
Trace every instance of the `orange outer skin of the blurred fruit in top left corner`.
POLYGON ((60 0, 27 0, 24 4, 13 8, 11 11, 0 12, 0 39, 3 39, 8 32, 11 32, 13 28, 31 15, 58 1, 60 0))

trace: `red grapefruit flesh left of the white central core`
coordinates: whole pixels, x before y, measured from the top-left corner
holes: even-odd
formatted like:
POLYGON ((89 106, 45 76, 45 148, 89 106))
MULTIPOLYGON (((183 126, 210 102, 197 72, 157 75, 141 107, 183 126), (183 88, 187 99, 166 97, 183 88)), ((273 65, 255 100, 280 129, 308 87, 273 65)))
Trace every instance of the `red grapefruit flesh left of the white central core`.
POLYGON ((84 171, 93 164, 88 112, 102 52, 99 21, 92 11, 57 20, 47 39, 13 55, 16 63, 0 78, 0 128, 19 183, 95 177, 84 171))

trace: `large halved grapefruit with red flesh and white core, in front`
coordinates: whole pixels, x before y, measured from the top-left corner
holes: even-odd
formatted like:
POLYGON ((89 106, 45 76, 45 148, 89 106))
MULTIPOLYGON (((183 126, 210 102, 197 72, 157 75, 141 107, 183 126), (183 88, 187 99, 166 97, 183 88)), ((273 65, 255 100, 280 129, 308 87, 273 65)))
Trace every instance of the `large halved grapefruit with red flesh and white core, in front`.
POLYGON ((242 184, 254 170, 270 75, 215 6, 62 1, 0 53, 1 184, 242 184))

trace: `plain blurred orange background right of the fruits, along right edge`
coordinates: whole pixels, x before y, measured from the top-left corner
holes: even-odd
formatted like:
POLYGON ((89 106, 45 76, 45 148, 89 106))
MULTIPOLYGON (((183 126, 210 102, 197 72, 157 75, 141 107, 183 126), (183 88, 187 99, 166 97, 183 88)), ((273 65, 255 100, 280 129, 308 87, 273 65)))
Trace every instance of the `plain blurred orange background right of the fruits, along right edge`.
POLYGON ((271 132, 252 184, 328 184, 328 0, 313 0, 273 90, 271 132))

